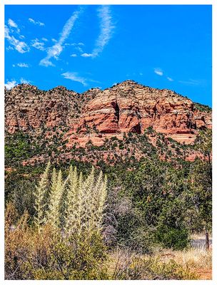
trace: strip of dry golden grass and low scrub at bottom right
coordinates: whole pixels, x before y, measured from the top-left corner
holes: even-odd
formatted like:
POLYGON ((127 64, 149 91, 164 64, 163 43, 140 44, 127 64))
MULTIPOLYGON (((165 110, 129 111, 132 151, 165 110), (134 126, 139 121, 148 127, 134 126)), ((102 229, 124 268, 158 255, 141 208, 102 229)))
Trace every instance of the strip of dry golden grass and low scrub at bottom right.
POLYGON ((111 279, 211 279, 212 252, 156 249, 148 256, 118 249, 109 254, 106 268, 111 279))

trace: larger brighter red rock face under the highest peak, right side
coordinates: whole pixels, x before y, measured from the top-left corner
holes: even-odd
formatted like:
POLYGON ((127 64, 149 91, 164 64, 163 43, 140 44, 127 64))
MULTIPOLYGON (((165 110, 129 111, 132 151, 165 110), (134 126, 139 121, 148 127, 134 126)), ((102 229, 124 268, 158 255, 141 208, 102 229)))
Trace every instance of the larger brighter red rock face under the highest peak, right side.
POLYGON ((95 145, 102 145, 108 134, 109 137, 129 132, 140 134, 148 127, 189 144, 198 130, 211 128, 211 113, 197 110, 191 100, 171 90, 125 81, 99 92, 84 106, 81 117, 72 125, 69 145, 79 140, 85 145, 90 139, 95 145), (96 130, 101 137, 86 135, 89 130, 96 130))

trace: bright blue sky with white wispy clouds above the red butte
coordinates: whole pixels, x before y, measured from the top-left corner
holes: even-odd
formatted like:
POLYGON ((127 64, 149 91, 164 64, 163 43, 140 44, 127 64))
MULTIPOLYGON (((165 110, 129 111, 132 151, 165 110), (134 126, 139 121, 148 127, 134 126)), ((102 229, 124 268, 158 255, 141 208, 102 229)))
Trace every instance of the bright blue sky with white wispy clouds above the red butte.
POLYGON ((6 88, 132 79, 211 105, 209 5, 6 5, 6 88))

